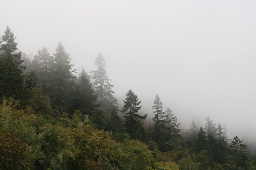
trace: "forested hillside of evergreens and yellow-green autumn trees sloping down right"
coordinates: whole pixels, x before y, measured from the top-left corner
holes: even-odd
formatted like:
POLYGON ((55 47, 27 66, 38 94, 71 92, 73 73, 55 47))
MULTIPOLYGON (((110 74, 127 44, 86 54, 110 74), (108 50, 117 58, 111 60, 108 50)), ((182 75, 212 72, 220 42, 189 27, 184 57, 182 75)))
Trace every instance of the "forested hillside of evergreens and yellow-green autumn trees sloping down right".
POLYGON ((120 108, 100 52, 88 74, 61 43, 30 59, 15 38, 8 26, 0 38, 0 169, 256 169, 255 154, 210 117, 181 131, 156 95, 145 124, 132 89, 120 108))

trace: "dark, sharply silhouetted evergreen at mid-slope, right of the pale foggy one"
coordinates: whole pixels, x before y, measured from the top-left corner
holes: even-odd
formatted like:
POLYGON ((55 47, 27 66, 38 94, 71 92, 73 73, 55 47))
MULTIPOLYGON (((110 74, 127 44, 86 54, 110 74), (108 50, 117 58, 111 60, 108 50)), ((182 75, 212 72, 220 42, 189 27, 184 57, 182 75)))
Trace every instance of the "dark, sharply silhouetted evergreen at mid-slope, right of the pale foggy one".
POLYGON ((142 121, 146 119, 146 115, 141 116, 136 114, 140 109, 141 101, 138 101, 137 95, 134 94, 132 90, 129 90, 126 93, 126 98, 124 100, 124 106, 122 113, 124 113, 124 126, 126 128, 126 132, 131 136, 131 139, 138 139, 140 136, 138 133, 141 128, 143 128, 142 121))

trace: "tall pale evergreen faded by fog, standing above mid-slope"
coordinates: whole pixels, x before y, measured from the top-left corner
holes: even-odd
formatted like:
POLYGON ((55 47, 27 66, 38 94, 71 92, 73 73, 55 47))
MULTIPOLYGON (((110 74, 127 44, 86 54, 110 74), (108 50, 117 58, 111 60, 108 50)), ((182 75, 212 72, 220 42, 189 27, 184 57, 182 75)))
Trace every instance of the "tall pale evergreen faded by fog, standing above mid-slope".
POLYGON ((103 55, 99 52, 95 59, 95 65, 97 70, 93 71, 92 79, 94 79, 95 93, 98 95, 98 102, 100 107, 105 108, 107 112, 111 112, 112 108, 118 109, 117 99, 113 96, 114 91, 112 88, 114 85, 110 84, 105 67, 106 62, 103 55))

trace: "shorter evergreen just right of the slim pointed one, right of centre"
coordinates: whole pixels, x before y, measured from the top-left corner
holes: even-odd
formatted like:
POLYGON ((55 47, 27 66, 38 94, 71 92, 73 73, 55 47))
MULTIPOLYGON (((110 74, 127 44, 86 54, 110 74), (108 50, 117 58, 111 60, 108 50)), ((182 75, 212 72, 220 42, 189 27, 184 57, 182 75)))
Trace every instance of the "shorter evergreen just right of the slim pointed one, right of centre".
POLYGON ((180 129, 179 124, 177 124, 177 116, 174 116, 174 113, 172 113, 172 110, 170 108, 167 108, 165 111, 166 115, 165 115, 165 126, 166 126, 166 130, 167 130, 167 136, 169 138, 174 137, 181 137, 179 132, 180 129))

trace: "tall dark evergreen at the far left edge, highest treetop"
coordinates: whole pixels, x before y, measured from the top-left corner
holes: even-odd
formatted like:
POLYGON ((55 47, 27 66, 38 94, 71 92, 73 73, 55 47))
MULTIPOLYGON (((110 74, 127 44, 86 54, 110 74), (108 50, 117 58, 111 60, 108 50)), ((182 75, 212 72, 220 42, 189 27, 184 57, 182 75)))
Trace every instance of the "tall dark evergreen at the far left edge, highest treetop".
POLYGON ((27 90, 23 86, 25 66, 22 66, 21 52, 17 52, 16 36, 7 26, 0 46, 0 98, 9 96, 24 101, 27 90))

